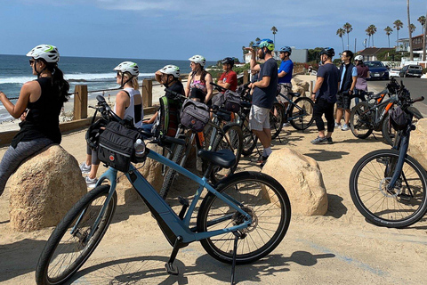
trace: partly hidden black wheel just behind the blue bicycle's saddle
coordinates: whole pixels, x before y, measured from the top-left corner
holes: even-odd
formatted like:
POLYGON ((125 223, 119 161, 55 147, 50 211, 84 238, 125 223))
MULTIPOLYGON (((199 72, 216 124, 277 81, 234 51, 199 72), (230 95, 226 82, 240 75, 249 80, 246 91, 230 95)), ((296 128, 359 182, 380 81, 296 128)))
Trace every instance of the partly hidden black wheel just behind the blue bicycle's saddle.
POLYGON ((230 176, 233 174, 238 168, 238 162, 240 161, 240 156, 242 155, 243 150, 243 133, 242 128, 238 126, 236 123, 229 123, 223 127, 224 135, 218 134, 216 135, 213 151, 219 150, 230 150, 233 151, 236 156, 236 163, 234 166, 229 169, 222 167, 213 167, 210 178, 212 183, 217 183, 222 180, 224 177, 230 176), (232 143, 230 146, 229 142, 225 139, 224 136, 227 136, 229 141, 232 143))

